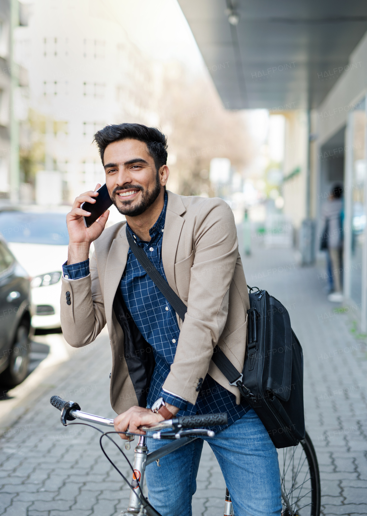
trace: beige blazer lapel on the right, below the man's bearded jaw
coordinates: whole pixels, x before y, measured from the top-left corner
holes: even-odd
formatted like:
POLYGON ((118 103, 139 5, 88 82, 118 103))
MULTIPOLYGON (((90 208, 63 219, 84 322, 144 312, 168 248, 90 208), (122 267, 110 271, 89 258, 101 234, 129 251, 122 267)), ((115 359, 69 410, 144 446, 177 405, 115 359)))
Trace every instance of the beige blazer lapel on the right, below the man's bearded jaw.
POLYGON ((162 262, 169 286, 178 295, 174 280, 174 262, 179 244, 181 230, 185 220, 181 217, 186 208, 181 197, 167 191, 168 202, 162 240, 162 262))

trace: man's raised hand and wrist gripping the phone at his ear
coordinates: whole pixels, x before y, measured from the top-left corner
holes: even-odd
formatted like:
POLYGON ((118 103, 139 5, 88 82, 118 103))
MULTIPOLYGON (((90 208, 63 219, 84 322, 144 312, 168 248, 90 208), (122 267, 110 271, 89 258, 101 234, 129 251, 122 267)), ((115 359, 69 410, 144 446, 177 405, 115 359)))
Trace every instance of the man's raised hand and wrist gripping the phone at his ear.
MULTIPOLYGON (((105 185, 104 187, 107 190, 105 185)), ((95 189, 96 191, 88 191, 78 196, 74 201, 71 211, 66 216, 69 232, 68 264, 83 262, 88 259, 90 244, 101 235, 107 222, 109 211, 108 209, 106 211, 105 206, 108 199, 109 204, 107 207, 109 207, 112 202, 109 196, 108 199, 106 199, 102 192, 103 202, 98 203, 97 208, 95 208, 94 206, 97 204, 100 196, 99 190, 101 189, 101 185, 98 184, 95 189), (85 219, 92 217, 92 211, 85 209, 85 207, 89 206, 93 206, 93 208, 90 209, 93 210, 94 223, 92 222, 87 225, 85 219), (103 211, 101 211, 102 208, 104 208, 103 211), (100 215, 97 216, 99 212, 100 215), (98 217, 100 218, 98 219, 98 217)))

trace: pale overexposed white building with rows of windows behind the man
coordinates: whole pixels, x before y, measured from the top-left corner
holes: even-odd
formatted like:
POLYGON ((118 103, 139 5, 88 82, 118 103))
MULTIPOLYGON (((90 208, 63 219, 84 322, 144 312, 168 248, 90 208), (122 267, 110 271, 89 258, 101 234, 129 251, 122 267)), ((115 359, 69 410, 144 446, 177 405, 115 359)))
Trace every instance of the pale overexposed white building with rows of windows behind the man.
MULTIPOLYGON (((104 172, 93 135, 110 123, 156 124, 149 62, 119 17, 99 0, 36 0, 17 29, 17 61, 29 70, 29 105, 46 117, 45 169, 62 173, 63 202, 104 172)), ((51 192, 50 192, 51 193, 51 192)))

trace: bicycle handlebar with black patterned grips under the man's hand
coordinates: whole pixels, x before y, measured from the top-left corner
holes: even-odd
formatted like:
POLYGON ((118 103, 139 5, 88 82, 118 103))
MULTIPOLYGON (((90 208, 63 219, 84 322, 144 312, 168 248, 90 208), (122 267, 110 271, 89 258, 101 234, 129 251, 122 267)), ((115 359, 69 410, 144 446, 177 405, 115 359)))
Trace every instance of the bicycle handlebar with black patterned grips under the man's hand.
MULTIPOLYGON (((96 416, 82 412, 81 408, 75 401, 65 401, 59 396, 52 396, 50 403, 53 407, 61 411, 61 423, 67 425, 67 421, 75 419, 82 421, 89 421, 103 426, 114 426, 114 420, 106 417, 96 416)), ((142 430, 160 430, 164 428, 195 428, 197 426, 217 426, 227 425, 227 413, 221 414, 202 414, 194 416, 179 416, 172 420, 161 421, 159 423, 152 423, 150 425, 142 426, 142 430)))

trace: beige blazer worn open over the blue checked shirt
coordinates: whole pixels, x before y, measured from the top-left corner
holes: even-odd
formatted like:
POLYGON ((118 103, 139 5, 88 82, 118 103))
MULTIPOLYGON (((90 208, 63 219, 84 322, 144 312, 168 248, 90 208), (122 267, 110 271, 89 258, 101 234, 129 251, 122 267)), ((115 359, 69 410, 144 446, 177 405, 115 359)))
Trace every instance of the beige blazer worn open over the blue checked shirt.
MULTIPOLYGON (((199 379, 208 373, 235 394, 238 404, 237 387, 229 385, 211 361, 216 344, 239 373, 245 359, 250 304, 232 211, 218 198, 167 193, 162 260, 167 281, 187 305, 187 313, 184 322, 177 316, 180 337, 164 389, 195 404, 199 379)), ((129 250, 125 222, 105 229, 94 249, 89 276, 62 278, 61 326, 67 342, 81 347, 93 342, 107 323, 113 357, 110 400, 121 413, 138 404, 124 360, 123 331, 113 310, 129 250)))

